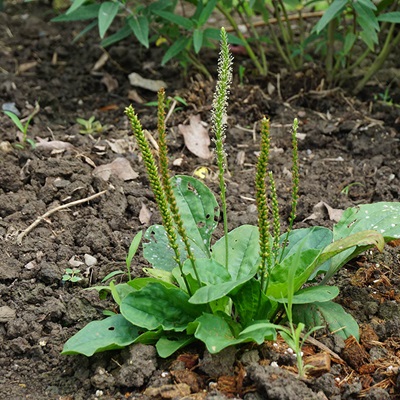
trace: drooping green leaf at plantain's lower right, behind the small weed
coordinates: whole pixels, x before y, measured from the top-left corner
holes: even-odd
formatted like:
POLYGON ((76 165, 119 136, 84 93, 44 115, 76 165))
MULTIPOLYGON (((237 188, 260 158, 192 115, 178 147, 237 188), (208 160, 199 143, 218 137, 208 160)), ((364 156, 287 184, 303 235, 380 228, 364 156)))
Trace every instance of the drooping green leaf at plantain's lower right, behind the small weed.
POLYGON ((355 319, 342 306, 332 301, 297 304, 293 306, 293 322, 303 322, 307 329, 327 325, 343 339, 354 336, 359 339, 359 328, 355 319))

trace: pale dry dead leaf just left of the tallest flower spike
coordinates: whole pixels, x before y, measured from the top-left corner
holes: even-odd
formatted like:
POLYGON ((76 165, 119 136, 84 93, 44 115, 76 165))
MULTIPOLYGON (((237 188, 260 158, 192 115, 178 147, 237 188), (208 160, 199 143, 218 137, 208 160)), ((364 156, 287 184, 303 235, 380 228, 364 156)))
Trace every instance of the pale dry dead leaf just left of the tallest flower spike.
POLYGON ((200 115, 192 115, 189 125, 178 125, 178 129, 191 153, 204 159, 212 157, 213 153, 209 149, 211 140, 207 129, 201 123, 200 115))

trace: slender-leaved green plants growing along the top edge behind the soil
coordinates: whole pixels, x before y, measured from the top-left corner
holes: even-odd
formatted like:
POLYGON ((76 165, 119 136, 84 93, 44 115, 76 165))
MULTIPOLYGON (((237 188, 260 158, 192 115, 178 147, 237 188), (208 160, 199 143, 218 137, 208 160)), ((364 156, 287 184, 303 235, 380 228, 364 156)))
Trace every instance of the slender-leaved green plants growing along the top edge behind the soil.
POLYGON ((199 53, 205 47, 215 47, 218 40, 218 29, 208 24, 212 13, 222 15, 230 24, 230 42, 245 49, 258 74, 268 73, 268 49, 273 46, 292 70, 302 68, 305 61, 320 62, 331 85, 345 84, 354 79, 357 68, 364 68, 356 91, 400 42, 395 29, 400 22, 397 0, 160 0, 149 4, 73 0, 65 14, 54 21, 91 21, 76 39, 97 27, 104 47, 133 34, 146 48, 150 44, 165 48, 162 65, 175 58, 184 68, 191 64, 210 77, 199 53), (122 27, 106 36, 117 17, 122 27))

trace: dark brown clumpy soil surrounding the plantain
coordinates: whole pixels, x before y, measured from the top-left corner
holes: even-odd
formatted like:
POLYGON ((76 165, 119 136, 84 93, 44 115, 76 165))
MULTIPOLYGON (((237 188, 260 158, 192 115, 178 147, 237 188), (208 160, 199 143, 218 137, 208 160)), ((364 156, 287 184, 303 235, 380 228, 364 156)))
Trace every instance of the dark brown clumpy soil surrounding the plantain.
MULTIPOLYGON (((207 167, 205 181, 217 191, 214 161, 191 154, 178 130, 193 115, 210 122, 214 83, 195 72, 184 76, 173 63, 161 68, 158 49, 145 51, 131 41, 109 49, 108 61, 94 71, 104 54, 95 33, 72 44, 82 26, 50 23, 51 7, 30 3, 9 5, 6 11, 0 13, 0 100, 2 105, 15 103, 23 117, 39 102, 28 136, 41 144, 34 150, 27 143, 21 148, 15 126, 0 114, 1 399, 400 398, 398 243, 382 254, 363 255, 332 282, 341 289, 338 301, 361 324, 361 344, 319 334, 319 343, 336 353, 320 376, 297 379, 294 358, 282 341, 229 348, 212 357, 199 345, 168 360, 145 345, 91 358, 61 356, 68 338, 113 307, 100 301, 96 291, 83 289, 124 269, 133 236, 160 221, 123 112, 132 102, 144 127, 156 135, 155 108, 133 100, 139 95, 144 102, 154 101, 156 94, 130 86, 128 74, 163 79, 168 95, 187 101, 168 120, 171 168, 193 174, 207 167), (114 88, 103 83, 109 81, 114 88), (76 118, 92 115, 103 131, 80 134, 76 118), (132 168, 124 169, 129 176, 112 173, 105 180, 94 169, 121 158, 132 168), (101 191, 106 192, 42 219, 21 245, 16 243, 48 210, 101 191), (63 283, 65 269, 73 265, 79 265, 84 279, 63 283)), ((205 58, 212 70, 215 57, 205 58)), ((241 61, 235 61, 236 68, 241 61)), ((320 83, 317 69, 305 66, 296 75, 281 76, 280 90, 274 74, 234 84, 226 138, 230 228, 256 224, 255 127, 263 115, 271 118, 271 166, 284 220, 290 211, 294 117, 303 134, 296 227, 332 226, 326 208, 316 208, 321 201, 345 209, 399 200, 399 109, 373 101, 373 94, 384 91, 379 86, 369 87, 364 98, 353 98, 341 89, 318 90, 320 83)), ((145 265, 137 257, 134 275, 145 265)), ((305 356, 324 352, 318 343, 304 348, 305 356)))

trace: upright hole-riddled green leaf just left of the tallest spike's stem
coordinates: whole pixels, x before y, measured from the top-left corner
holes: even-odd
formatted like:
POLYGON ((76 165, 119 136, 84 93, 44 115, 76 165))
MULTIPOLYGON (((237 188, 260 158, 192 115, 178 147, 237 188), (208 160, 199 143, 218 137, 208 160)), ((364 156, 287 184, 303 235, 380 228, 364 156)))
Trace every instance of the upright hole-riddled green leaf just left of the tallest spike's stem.
POLYGON ((176 175, 171 183, 190 242, 202 249, 203 257, 210 257, 211 236, 219 219, 214 194, 203 182, 191 176, 176 175))

